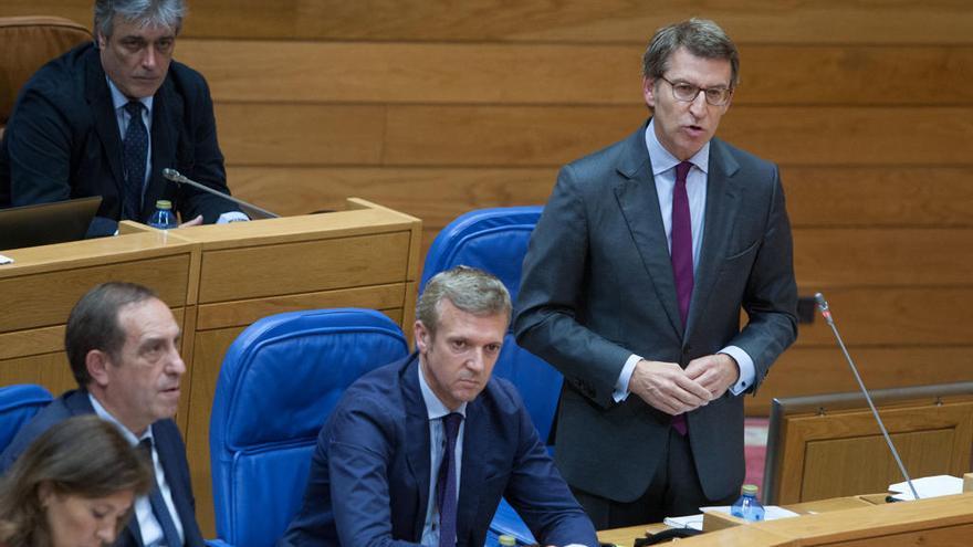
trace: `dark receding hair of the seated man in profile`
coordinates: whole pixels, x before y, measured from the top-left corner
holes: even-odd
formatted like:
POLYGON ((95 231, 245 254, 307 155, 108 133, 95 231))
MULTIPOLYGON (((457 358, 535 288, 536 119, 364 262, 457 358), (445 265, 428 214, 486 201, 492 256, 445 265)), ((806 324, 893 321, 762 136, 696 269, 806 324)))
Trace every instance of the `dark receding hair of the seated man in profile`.
POLYGON ((103 283, 81 297, 64 329, 64 349, 74 379, 82 388, 91 382, 85 359, 88 351, 100 349, 118 360, 126 333, 118 324, 118 312, 129 304, 158 298, 155 291, 134 283, 103 283))

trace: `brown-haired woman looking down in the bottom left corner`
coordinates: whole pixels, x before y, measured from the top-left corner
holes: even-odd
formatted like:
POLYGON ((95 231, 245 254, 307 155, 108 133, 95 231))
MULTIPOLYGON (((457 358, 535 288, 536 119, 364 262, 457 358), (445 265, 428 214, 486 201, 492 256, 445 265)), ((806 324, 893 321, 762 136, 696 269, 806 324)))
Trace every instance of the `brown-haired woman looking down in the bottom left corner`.
POLYGON ((0 482, 0 547, 111 545, 151 484, 148 463, 114 424, 67 419, 0 482))

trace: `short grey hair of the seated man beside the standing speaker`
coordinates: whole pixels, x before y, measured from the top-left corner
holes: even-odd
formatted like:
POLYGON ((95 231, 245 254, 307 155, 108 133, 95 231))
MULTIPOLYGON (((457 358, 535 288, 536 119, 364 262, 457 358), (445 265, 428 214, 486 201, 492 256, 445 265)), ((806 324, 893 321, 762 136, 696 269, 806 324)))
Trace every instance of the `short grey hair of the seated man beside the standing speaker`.
POLYGON ((436 337, 442 301, 468 314, 491 316, 503 314, 510 323, 510 292, 493 274, 470 266, 454 266, 433 275, 416 306, 416 318, 436 337))

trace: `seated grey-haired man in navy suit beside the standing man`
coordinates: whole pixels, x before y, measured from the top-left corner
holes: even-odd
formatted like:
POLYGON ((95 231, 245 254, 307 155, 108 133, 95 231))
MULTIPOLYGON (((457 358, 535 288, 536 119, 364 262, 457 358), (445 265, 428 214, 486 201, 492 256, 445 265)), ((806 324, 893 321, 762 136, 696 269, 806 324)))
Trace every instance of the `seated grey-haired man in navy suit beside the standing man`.
POLYGON ((516 389, 491 378, 510 311, 503 283, 480 270, 429 281, 418 354, 342 397, 279 545, 479 547, 501 496, 544 545, 598 545, 516 389))

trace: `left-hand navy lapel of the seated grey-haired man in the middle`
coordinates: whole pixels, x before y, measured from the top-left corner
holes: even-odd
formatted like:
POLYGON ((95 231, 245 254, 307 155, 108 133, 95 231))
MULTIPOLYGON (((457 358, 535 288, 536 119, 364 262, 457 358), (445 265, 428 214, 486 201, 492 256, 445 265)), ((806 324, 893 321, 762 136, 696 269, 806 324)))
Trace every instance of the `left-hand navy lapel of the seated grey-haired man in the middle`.
POLYGON ((414 519, 412 537, 418 541, 422 537, 422 527, 426 525, 426 507, 429 506, 429 477, 431 465, 429 461, 429 413, 422 392, 419 390, 419 357, 412 355, 409 364, 405 367, 402 382, 402 400, 406 403, 407 434, 415 436, 406 446, 406 460, 412 478, 417 485, 416 518, 414 519))

